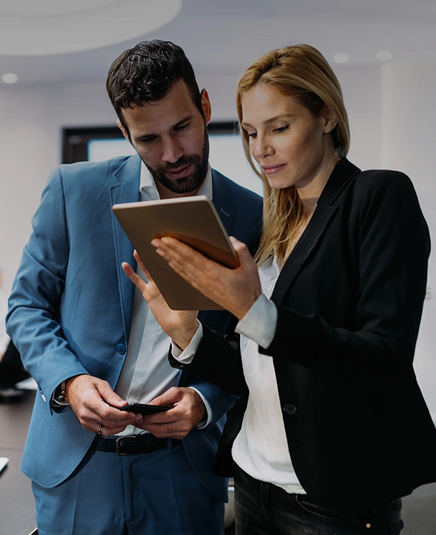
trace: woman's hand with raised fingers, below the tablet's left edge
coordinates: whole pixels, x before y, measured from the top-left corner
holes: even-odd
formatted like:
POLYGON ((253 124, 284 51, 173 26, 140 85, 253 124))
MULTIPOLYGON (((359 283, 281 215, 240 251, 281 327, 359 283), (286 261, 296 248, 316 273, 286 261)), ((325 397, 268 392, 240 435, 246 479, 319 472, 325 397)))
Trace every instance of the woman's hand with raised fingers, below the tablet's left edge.
POLYGON ((159 292, 158 287, 151 278, 150 273, 147 271, 144 262, 142 262, 142 259, 136 250, 133 255, 148 282, 144 282, 127 262, 121 264, 124 273, 126 273, 137 289, 140 290, 142 296, 149 304, 153 316, 156 317, 158 324, 160 324, 165 333, 172 338, 176 345, 181 349, 185 349, 198 329, 198 311, 172 310, 167 305, 167 301, 163 299, 162 294, 159 292))

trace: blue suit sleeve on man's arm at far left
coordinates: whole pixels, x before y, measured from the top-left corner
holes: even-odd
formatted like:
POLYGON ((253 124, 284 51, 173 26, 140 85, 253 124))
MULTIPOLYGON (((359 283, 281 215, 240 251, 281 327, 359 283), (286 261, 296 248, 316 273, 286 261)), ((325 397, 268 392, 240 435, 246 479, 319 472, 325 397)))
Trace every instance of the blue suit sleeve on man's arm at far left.
POLYGON ((50 408, 48 401, 64 379, 87 373, 63 338, 59 322, 69 253, 59 169, 50 175, 32 225, 9 299, 7 328, 50 408))

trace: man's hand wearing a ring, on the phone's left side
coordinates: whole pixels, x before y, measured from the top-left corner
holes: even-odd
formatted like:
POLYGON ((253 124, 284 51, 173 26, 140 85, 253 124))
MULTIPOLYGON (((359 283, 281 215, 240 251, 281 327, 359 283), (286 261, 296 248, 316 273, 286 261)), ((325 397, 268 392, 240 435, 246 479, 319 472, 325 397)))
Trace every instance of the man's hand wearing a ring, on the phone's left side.
POLYGON ((76 375, 70 379, 66 385, 66 400, 84 429, 97 433, 103 425, 100 435, 105 437, 125 430, 137 419, 131 412, 114 408, 123 407, 127 402, 108 382, 91 375, 76 375))

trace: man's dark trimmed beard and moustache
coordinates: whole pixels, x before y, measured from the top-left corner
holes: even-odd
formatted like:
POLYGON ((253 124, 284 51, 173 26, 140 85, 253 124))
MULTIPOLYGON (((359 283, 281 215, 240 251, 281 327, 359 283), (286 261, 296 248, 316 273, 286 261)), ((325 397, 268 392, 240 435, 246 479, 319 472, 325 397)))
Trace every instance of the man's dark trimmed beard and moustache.
POLYGON ((153 175, 153 179, 162 184, 167 190, 172 193, 190 193, 200 188, 204 178, 206 177, 207 166, 209 162, 209 137, 207 130, 204 128, 204 142, 202 146, 201 154, 194 154, 193 156, 181 156, 175 163, 167 163, 166 165, 160 165, 153 169, 146 165, 149 172, 153 175), (193 164, 193 172, 188 174, 184 179, 169 179, 165 175, 167 171, 174 171, 179 169, 182 165, 193 164))

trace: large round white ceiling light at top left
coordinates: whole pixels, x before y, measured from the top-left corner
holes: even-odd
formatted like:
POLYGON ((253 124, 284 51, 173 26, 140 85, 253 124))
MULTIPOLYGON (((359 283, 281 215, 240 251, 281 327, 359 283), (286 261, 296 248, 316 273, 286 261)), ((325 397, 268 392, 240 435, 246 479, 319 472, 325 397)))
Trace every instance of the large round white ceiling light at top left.
POLYGON ((181 1, 0 0, 0 55, 66 54, 123 43, 172 21, 181 1), (41 6, 38 15, 35 5, 41 6))

